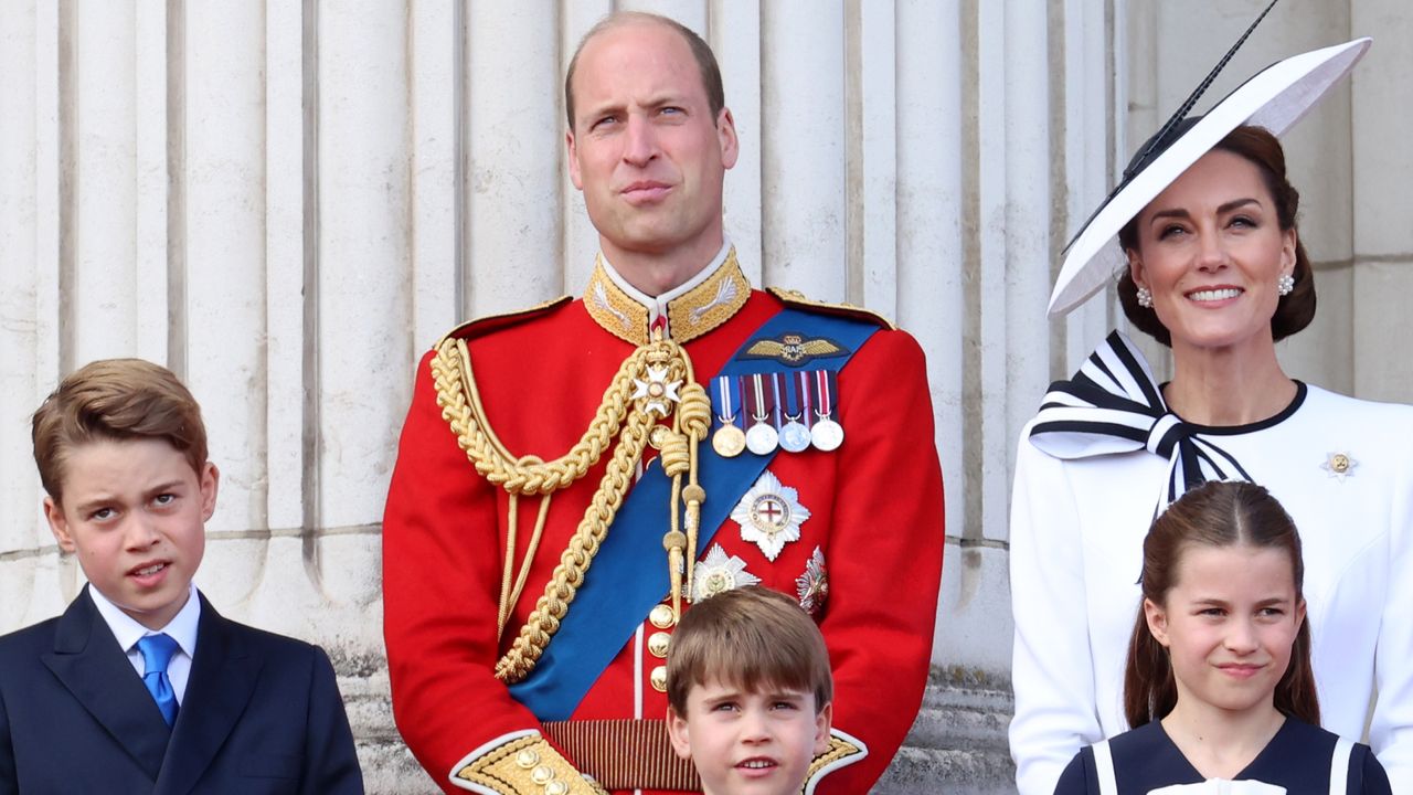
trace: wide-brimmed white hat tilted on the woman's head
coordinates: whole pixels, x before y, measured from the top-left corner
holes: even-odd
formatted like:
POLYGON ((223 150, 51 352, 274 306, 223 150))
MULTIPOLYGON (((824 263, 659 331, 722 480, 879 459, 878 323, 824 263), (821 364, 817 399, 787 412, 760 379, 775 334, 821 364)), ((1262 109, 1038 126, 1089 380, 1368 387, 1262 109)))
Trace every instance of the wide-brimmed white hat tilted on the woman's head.
MULTIPOLYGON (((1226 95, 1204 116, 1183 119, 1195 100, 1195 96, 1190 98, 1186 103, 1188 108, 1169 120, 1164 130, 1145 144, 1135 163, 1125 171, 1119 187, 1099 205, 1065 249, 1064 265, 1050 294, 1048 315, 1057 318, 1068 314, 1102 290, 1113 274, 1128 265, 1119 248, 1119 229, 1228 133, 1242 124, 1251 124, 1265 127, 1275 136, 1283 134, 1349 74, 1372 42, 1373 40, 1368 37, 1356 38, 1272 64, 1226 95), (1171 140, 1161 140, 1164 137, 1171 140)), ((1214 76, 1215 72, 1208 76, 1207 83, 1214 76)))

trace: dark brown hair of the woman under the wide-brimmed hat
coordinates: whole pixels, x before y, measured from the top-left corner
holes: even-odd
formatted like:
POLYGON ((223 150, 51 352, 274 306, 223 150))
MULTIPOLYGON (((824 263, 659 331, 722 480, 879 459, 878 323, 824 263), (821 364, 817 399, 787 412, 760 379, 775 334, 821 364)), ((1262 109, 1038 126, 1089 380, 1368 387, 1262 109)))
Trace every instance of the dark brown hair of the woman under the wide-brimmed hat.
MULTIPOLYGON (((1226 134, 1215 147, 1222 151, 1236 154, 1256 167, 1266 191, 1276 202, 1276 219, 1280 229, 1296 229, 1296 215, 1300 212, 1300 192, 1290 185, 1286 178, 1286 153, 1280 149, 1280 141, 1265 127, 1241 126, 1226 134)), ((1142 215, 1142 212, 1139 214, 1142 215)), ((1139 249, 1139 216, 1135 215, 1119 229, 1119 248, 1125 252, 1139 249)), ((1296 235, 1296 289, 1289 296, 1282 296, 1276 304, 1276 314, 1270 317, 1270 335, 1279 342, 1286 337, 1310 325, 1316 317, 1316 282, 1310 270, 1310 257, 1306 256, 1306 245, 1296 235)), ((1128 269, 1119 277, 1119 303, 1129 323, 1146 331, 1164 345, 1173 344, 1173 337, 1167 328, 1159 323, 1157 313, 1139 306, 1137 284, 1133 283, 1133 273, 1128 269)))

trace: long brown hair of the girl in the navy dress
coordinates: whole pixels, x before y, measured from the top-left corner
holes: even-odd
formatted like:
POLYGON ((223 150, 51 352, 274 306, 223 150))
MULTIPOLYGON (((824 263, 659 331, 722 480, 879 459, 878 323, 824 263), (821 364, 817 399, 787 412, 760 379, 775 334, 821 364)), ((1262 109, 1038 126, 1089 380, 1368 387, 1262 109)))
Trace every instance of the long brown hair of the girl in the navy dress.
MULTIPOLYGON (((1183 553, 1193 546, 1246 546, 1276 549, 1290 556, 1296 600, 1304 600, 1306 574, 1300 533, 1286 509, 1265 488, 1249 482, 1214 481, 1184 494, 1153 521, 1143 540, 1143 597, 1164 604, 1177 586, 1183 553)), ((1173 712, 1177 682, 1169 652, 1149 631, 1143 605, 1129 638, 1123 673, 1123 714, 1137 729, 1173 712)), ((1310 622, 1301 621, 1290 649, 1290 665, 1276 683, 1275 706, 1314 726, 1320 724, 1320 699, 1310 666, 1310 622)))

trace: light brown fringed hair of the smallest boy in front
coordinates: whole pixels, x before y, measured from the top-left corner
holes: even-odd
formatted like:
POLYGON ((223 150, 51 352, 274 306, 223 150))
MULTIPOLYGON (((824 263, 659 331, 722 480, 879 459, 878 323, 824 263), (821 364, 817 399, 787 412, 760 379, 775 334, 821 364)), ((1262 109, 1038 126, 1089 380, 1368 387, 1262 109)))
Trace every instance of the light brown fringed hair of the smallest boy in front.
POLYGON ((667 652, 667 703, 687 716, 687 695, 708 680, 814 693, 815 714, 834 700, 820 628, 794 600, 760 586, 719 593, 682 614, 667 652))

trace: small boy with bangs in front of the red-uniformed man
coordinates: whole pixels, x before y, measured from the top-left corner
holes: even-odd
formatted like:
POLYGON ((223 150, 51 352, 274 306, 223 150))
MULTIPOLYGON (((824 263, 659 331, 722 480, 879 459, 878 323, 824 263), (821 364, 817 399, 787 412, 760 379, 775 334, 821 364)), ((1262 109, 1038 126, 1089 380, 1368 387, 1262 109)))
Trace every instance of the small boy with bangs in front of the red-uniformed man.
POLYGON ((832 700, 824 635, 779 591, 719 593, 687 610, 673 634, 667 731, 705 795, 798 794, 811 765, 828 764, 815 755, 829 748, 832 700))

